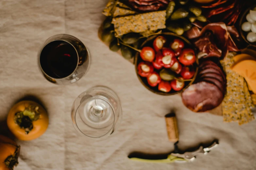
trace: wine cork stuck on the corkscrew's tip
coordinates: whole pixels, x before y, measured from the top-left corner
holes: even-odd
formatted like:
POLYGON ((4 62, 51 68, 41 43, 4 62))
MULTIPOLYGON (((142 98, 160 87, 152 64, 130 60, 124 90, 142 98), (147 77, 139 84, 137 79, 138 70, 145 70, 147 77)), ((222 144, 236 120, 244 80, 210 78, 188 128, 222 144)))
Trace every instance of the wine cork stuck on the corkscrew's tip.
POLYGON ((165 122, 169 141, 177 142, 179 140, 179 132, 175 113, 165 115, 165 122))

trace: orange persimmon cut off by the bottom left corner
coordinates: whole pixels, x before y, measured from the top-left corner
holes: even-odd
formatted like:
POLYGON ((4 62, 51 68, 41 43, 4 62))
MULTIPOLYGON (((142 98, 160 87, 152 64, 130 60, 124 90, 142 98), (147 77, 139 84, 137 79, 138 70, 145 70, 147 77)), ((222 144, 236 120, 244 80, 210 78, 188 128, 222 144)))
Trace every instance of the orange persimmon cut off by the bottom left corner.
POLYGON ((8 137, 0 135, 0 170, 12 170, 18 164, 20 147, 8 137))

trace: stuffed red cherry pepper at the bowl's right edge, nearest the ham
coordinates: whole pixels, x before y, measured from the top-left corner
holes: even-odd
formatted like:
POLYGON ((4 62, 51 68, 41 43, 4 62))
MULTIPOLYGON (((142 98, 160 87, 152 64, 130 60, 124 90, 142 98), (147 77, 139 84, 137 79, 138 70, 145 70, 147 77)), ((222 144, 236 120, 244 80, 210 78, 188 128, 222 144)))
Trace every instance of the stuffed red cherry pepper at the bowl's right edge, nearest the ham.
POLYGON ((180 63, 184 65, 192 65, 196 61, 195 52, 192 49, 184 49, 178 57, 180 63))

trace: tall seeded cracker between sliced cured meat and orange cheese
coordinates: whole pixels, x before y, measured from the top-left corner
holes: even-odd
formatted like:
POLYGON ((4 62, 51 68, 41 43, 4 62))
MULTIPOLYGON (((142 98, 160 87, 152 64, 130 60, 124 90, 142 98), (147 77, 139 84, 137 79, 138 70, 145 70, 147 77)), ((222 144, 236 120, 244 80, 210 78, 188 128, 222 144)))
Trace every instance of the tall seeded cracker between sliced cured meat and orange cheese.
POLYGON ((254 120, 254 117, 250 108, 251 104, 248 103, 249 91, 247 86, 244 86, 244 78, 230 69, 235 54, 229 53, 221 61, 227 76, 227 93, 222 102, 222 112, 224 122, 238 121, 241 125, 254 120))

